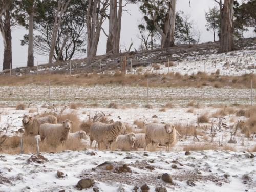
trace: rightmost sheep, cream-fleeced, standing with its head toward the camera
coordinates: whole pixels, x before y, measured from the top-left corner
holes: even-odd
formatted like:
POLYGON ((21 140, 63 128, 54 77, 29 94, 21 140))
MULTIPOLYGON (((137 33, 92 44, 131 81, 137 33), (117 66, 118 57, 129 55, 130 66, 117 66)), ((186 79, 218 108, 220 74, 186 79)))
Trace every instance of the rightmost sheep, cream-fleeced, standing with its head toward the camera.
POLYGON ((175 144, 177 132, 172 124, 157 124, 150 123, 145 126, 146 130, 146 147, 149 143, 162 144, 166 146, 166 151, 169 151, 169 146, 175 144))

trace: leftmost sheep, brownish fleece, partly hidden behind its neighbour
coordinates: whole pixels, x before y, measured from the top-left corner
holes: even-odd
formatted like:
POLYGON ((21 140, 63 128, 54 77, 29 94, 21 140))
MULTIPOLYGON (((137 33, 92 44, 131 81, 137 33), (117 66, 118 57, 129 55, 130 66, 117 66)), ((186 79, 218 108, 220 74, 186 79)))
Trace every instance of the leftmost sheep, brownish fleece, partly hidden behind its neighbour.
POLYGON ((41 124, 51 123, 57 124, 57 118, 53 115, 48 115, 45 117, 30 117, 24 115, 22 119, 22 125, 24 127, 25 135, 39 135, 39 127, 41 124))

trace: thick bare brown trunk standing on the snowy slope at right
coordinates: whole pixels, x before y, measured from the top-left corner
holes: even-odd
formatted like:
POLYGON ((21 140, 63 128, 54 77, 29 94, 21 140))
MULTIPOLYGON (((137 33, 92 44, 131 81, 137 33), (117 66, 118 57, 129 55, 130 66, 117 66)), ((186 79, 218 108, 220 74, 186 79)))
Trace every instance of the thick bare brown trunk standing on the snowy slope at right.
POLYGON ((233 0, 225 0, 221 15, 221 38, 219 53, 234 50, 233 44, 233 0))

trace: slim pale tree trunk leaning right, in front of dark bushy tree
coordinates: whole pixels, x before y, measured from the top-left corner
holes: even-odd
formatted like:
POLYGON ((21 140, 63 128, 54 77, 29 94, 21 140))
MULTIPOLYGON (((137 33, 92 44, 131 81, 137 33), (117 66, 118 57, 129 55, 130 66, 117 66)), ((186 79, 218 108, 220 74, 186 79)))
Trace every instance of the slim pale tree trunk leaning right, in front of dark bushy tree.
POLYGON ((51 48, 49 53, 49 64, 52 64, 53 56, 54 56, 54 50, 56 46, 56 40, 57 40, 57 32, 61 23, 61 19, 69 5, 70 0, 58 0, 58 7, 55 11, 54 16, 54 25, 52 30, 52 39, 51 39, 51 48))

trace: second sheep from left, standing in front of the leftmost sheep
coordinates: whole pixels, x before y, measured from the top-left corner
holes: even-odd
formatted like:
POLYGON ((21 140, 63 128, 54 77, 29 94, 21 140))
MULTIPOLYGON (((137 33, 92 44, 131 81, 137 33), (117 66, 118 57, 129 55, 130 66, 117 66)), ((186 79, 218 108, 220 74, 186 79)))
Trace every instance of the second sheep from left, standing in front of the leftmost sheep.
POLYGON ((72 122, 68 119, 61 124, 44 123, 40 125, 41 141, 46 139, 59 140, 60 142, 68 139, 72 122))

